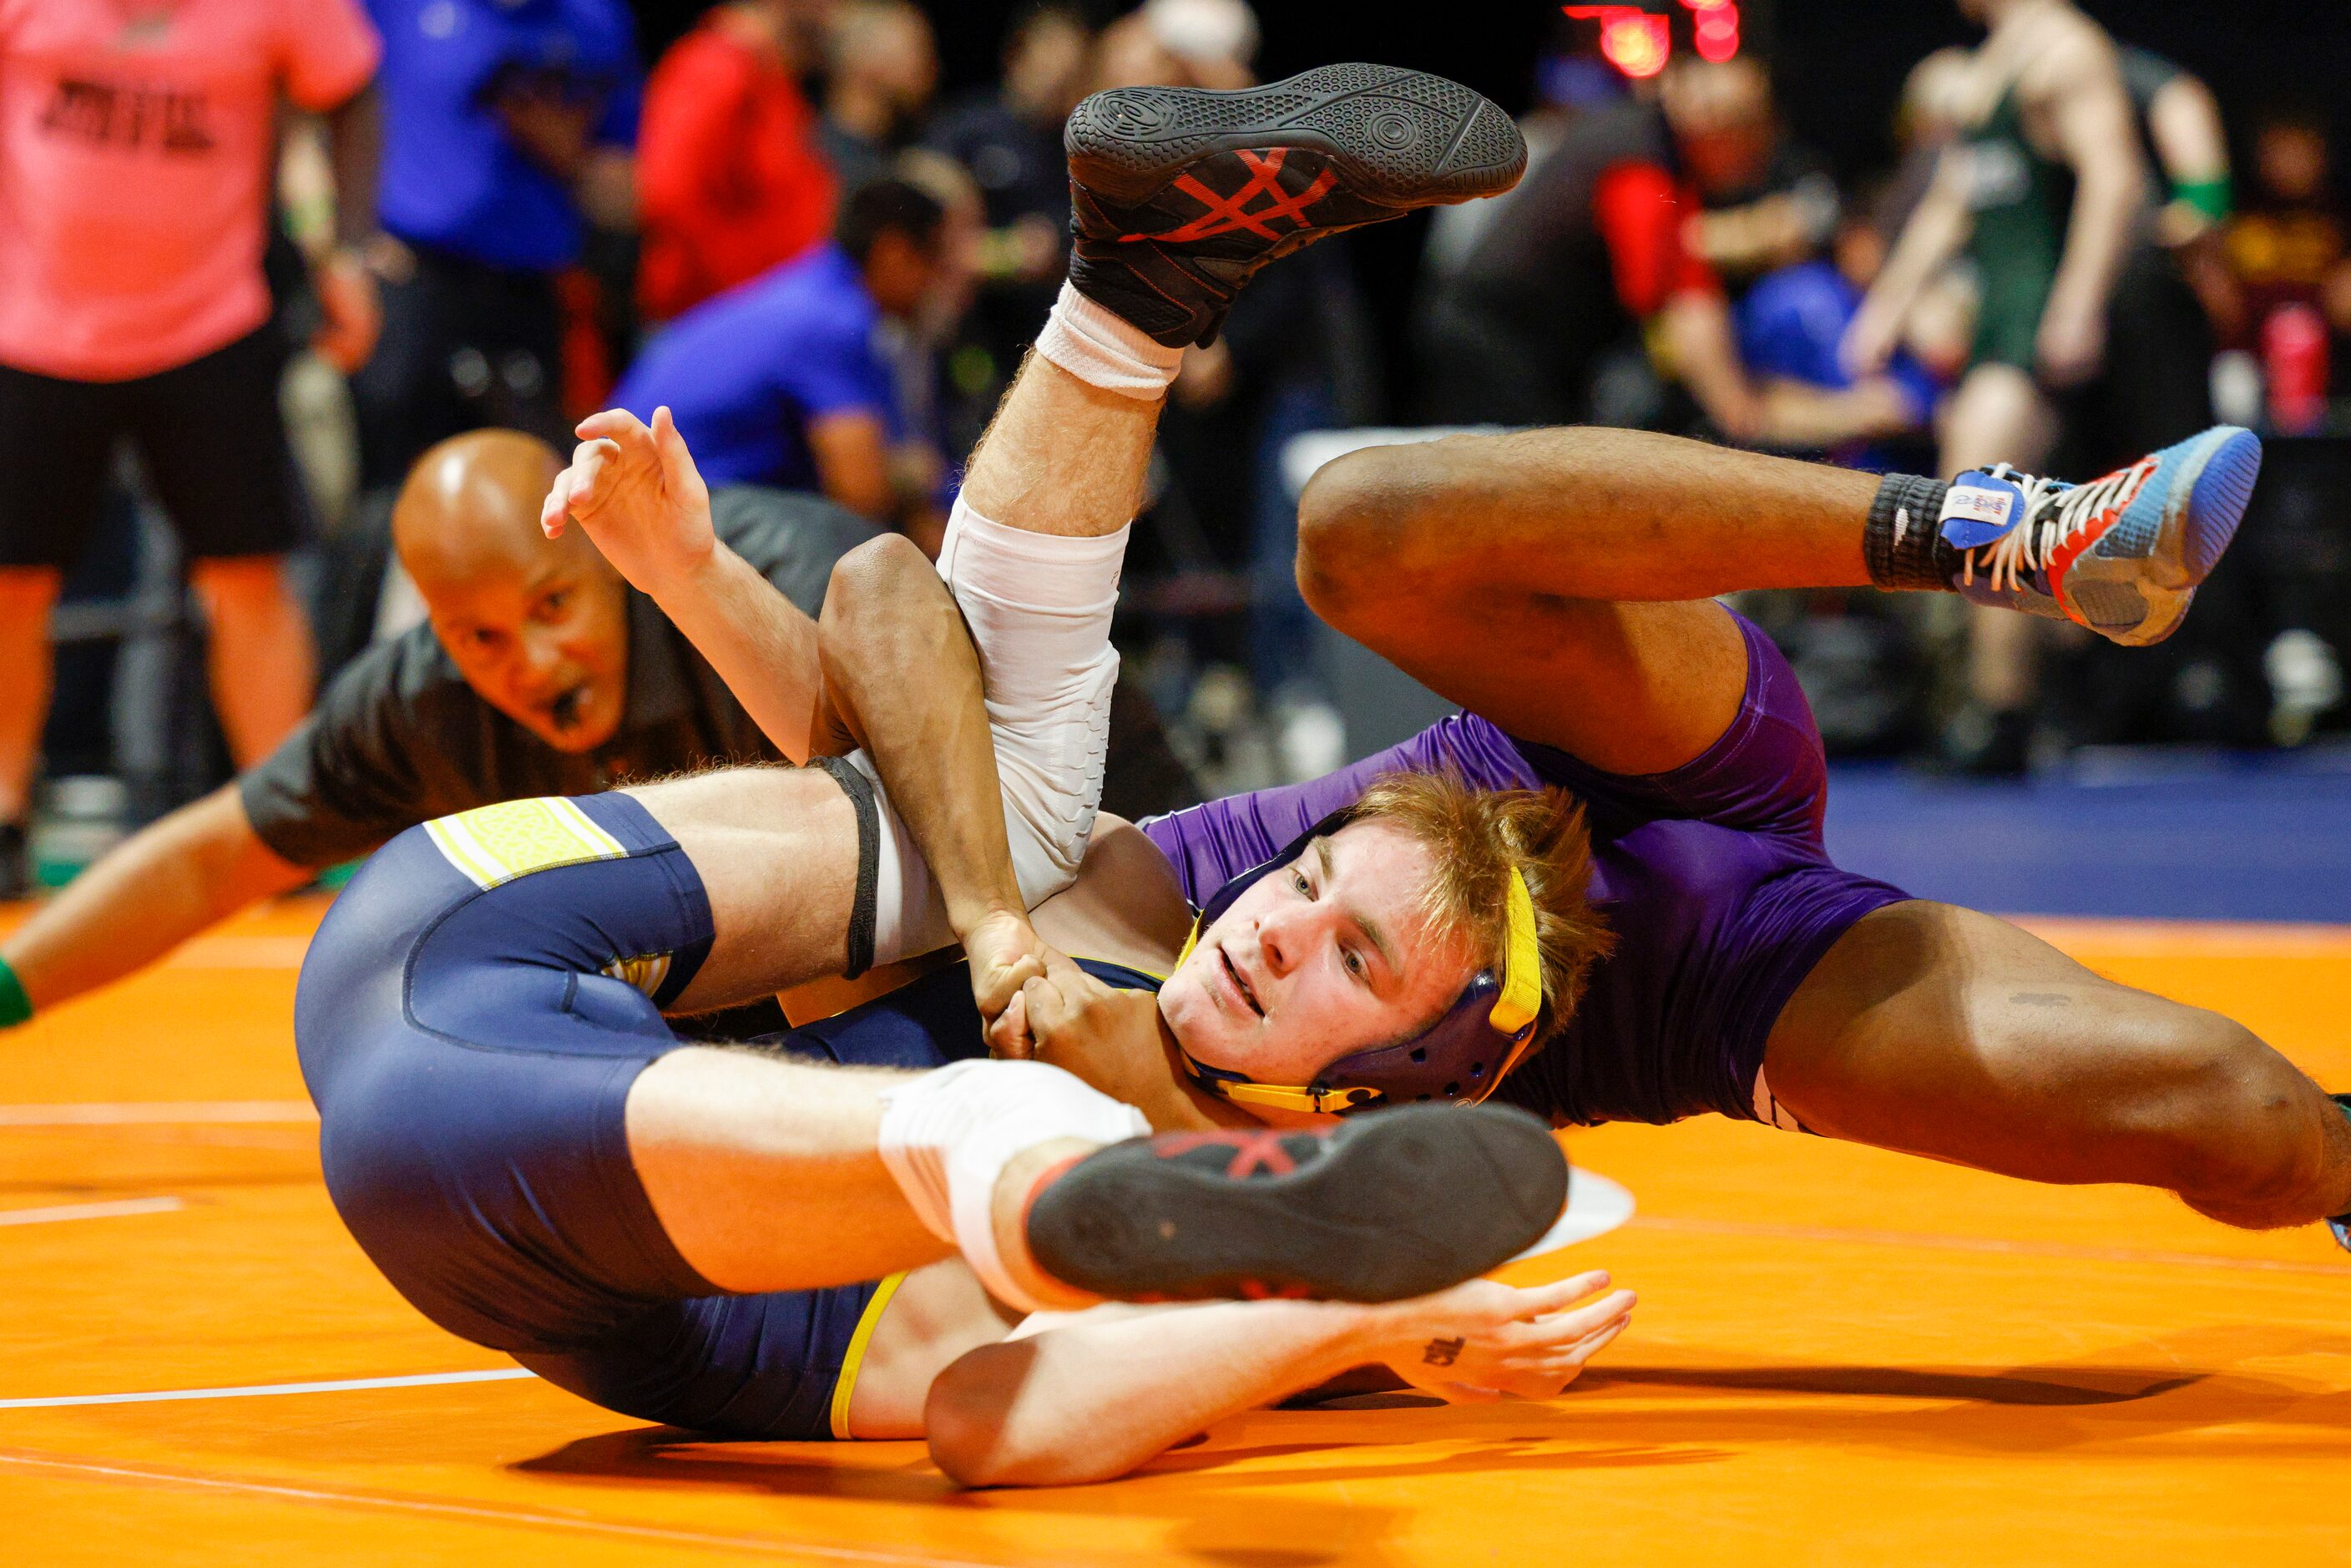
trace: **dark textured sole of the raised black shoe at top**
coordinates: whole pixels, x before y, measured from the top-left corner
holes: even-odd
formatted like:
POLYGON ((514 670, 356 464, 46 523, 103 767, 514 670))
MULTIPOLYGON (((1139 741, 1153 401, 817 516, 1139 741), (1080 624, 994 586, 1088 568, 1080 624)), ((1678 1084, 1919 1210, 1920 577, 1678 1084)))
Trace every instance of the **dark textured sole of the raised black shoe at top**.
POLYGON ((1481 94, 1425 71, 1319 66, 1244 92, 1117 87, 1077 106, 1070 176, 1138 205, 1213 153, 1302 148, 1354 195, 1406 212, 1519 183, 1526 139, 1481 94))

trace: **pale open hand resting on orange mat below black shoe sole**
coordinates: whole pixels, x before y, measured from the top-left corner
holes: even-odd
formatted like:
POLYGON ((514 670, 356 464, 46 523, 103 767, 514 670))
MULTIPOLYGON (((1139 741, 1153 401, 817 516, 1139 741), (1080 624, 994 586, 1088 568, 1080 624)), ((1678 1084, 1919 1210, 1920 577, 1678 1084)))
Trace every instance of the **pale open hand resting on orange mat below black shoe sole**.
POLYGON ((1385 1307, 1380 1359, 1448 1403, 1556 1399, 1632 1321, 1634 1293, 1601 1291, 1601 1272, 1535 1288, 1469 1279, 1385 1307))

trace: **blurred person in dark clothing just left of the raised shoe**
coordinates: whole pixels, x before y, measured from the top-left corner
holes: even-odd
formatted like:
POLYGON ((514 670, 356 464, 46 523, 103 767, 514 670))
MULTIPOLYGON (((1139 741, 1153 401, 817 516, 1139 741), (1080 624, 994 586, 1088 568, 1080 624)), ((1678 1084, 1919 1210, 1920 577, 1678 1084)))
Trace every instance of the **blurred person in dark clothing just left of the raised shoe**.
POLYGON ((994 407, 1067 268, 1070 169, 1060 127, 1086 92, 1091 47, 1093 33, 1077 9, 1023 12, 1004 40, 1004 85, 947 106, 926 139, 971 172, 985 205, 983 287, 955 376, 978 407, 994 407))

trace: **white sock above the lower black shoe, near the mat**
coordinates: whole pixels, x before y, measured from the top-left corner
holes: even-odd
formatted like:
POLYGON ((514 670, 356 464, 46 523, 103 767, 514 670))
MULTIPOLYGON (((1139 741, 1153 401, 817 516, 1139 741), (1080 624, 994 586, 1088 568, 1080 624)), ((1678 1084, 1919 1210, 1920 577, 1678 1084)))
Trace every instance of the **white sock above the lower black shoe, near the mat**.
POLYGON ((1044 1063, 950 1063, 882 1091, 882 1164, 915 1218, 952 1241, 997 1300, 1037 1312, 997 1253, 1004 1166, 1056 1138, 1119 1143, 1152 1131, 1133 1105, 1044 1063))

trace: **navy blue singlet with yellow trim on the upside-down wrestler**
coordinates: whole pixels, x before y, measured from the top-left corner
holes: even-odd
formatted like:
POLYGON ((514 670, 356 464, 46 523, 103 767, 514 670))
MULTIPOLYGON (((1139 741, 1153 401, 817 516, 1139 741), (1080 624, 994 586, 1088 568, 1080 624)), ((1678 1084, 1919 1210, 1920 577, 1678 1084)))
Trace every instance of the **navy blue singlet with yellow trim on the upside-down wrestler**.
MULTIPOLYGON (((628 1157, 628 1088, 686 1044, 661 1006, 710 931, 694 865, 628 795, 510 802, 386 844, 294 999, 327 1192, 418 1312, 548 1382, 726 1436, 846 1436, 835 1392, 879 1286, 722 1293, 628 1157)), ((985 1053, 962 964, 771 1044, 912 1070, 985 1053)))

